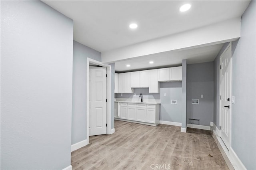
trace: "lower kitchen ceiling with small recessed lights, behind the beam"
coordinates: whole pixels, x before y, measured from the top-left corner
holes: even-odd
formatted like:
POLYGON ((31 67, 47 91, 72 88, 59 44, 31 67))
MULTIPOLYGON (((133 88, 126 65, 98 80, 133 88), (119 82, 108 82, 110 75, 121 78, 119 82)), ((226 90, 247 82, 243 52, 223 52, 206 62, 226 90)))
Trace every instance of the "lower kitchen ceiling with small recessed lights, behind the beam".
POLYGON ((215 59, 222 46, 223 43, 194 49, 166 51, 135 57, 116 62, 115 71, 121 73, 126 71, 180 66, 182 59, 187 59, 188 64, 209 62, 215 59), (150 61, 153 61, 154 63, 150 64, 150 61), (126 67, 126 65, 130 65, 130 67, 126 67))

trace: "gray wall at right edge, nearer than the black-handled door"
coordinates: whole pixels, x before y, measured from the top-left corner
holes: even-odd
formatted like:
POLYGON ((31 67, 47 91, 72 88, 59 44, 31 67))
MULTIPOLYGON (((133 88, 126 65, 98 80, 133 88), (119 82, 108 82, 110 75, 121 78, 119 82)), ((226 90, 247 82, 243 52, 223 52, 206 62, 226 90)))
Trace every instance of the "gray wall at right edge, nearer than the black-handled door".
POLYGON ((247 169, 256 169, 255 7, 251 1, 242 15, 241 38, 232 56, 231 147, 247 169))

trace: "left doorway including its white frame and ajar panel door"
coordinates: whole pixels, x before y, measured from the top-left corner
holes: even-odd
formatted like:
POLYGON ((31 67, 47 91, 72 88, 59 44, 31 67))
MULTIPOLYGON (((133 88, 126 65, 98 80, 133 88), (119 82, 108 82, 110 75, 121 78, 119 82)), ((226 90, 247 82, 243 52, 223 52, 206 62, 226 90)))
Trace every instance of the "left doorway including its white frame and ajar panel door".
POLYGON ((90 58, 87 58, 86 110, 87 144, 89 144, 89 136, 111 134, 111 65, 90 58), (92 91, 94 96, 91 95, 92 91), (94 122, 91 121, 92 119, 94 122))

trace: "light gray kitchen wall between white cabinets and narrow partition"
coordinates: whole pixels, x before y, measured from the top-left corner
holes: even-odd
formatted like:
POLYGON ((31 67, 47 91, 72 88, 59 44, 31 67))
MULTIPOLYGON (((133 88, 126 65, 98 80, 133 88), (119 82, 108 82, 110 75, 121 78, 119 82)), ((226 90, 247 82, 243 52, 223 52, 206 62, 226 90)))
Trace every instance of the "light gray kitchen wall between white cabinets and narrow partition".
POLYGON ((160 83, 160 99, 160 121, 181 123, 182 82, 160 83), (172 105, 171 100, 177 100, 177 105, 172 105))

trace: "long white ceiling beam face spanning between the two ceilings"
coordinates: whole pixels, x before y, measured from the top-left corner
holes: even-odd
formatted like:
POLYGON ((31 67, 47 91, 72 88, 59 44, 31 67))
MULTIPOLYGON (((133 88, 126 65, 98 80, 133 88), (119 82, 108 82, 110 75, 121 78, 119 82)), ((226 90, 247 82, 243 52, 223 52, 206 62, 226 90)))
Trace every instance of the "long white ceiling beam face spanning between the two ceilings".
POLYGON ((240 37, 240 17, 194 30, 102 52, 103 63, 177 49, 192 49, 230 42, 240 37))

